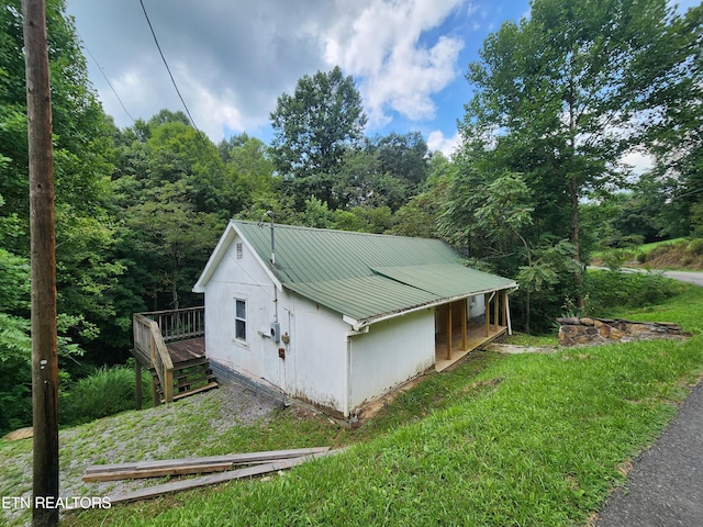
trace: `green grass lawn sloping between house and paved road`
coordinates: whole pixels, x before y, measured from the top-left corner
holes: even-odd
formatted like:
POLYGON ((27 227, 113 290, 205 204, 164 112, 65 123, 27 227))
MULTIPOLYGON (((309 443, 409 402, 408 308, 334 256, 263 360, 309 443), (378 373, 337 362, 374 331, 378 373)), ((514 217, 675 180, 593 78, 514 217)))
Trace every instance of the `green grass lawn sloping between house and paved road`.
POLYGON ((192 456, 350 448, 267 479, 66 515, 63 525, 585 526, 703 371, 703 289, 654 310, 602 315, 614 314, 677 322, 694 336, 550 355, 477 351, 356 429, 292 407, 216 441, 189 427, 183 455, 189 445, 192 456))

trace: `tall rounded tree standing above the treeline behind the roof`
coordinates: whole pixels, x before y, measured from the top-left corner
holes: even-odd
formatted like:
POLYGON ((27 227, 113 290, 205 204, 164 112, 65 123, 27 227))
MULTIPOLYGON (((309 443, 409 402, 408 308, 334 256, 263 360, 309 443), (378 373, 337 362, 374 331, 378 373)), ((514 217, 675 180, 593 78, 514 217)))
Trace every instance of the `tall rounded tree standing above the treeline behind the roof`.
POLYGON ((303 76, 293 96, 278 98, 270 114, 271 157, 286 190, 300 197, 333 201, 332 184, 346 148, 357 144, 366 125, 361 97, 352 76, 336 66, 325 74, 303 76))

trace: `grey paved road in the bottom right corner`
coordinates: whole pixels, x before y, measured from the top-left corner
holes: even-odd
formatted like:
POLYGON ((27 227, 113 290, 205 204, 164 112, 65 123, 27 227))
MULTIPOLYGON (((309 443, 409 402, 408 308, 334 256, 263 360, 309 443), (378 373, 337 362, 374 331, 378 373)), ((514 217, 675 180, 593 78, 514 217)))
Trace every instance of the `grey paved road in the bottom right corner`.
POLYGON ((703 525, 703 382, 659 440, 641 452, 605 503, 596 527, 703 525))

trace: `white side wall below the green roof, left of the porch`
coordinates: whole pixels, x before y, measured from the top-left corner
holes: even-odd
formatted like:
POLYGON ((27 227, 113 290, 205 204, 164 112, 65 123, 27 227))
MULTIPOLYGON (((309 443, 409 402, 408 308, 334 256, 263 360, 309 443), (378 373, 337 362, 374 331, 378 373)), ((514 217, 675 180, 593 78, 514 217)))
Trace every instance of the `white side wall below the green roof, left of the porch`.
POLYGON ((435 315, 427 309, 373 324, 350 337, 349 407, 377 399, 435 362, 435 315))

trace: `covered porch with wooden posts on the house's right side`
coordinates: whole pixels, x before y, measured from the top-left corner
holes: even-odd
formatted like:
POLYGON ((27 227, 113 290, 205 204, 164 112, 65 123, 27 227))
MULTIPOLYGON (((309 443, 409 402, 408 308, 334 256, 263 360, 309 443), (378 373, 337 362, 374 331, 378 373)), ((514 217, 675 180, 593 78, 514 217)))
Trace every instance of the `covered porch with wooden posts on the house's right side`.
POLYGON ((444 371, 472 350, 511 334, 509 290, 483 294, 482 321, 469 321, 468 299, 437 306, 435 318, 435 371, 444 371))

